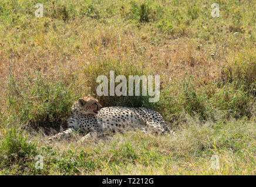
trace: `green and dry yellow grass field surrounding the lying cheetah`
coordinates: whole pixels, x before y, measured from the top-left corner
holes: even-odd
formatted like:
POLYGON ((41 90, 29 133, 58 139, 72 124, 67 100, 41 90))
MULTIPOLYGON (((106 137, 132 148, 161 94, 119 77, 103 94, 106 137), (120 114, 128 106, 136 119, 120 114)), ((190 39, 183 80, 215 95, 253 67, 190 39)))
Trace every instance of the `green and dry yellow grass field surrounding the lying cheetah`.
POLYGON ((41 3, 36 18, 36 3, 0 2, 0 174, 255 175, 254 1, 41 3), (96 78, 110 71, 160 75, 160 101, 97 96, 96 78), (157 110, 176 136, 48 144, 89 93, 103 106, 157 110))

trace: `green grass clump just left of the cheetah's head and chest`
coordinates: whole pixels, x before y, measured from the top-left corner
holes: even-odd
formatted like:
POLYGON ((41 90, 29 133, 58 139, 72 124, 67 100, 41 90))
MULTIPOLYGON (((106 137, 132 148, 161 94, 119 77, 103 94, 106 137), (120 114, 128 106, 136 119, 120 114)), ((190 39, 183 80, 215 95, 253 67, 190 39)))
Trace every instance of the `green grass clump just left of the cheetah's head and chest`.
POLYGON ((39 72, 23 82, 13 76, 9 79, 9 113, 33 127, 63 124, 75 101, 73 88, 72 82, 67 85, 63 79, 43 78, 39 72))

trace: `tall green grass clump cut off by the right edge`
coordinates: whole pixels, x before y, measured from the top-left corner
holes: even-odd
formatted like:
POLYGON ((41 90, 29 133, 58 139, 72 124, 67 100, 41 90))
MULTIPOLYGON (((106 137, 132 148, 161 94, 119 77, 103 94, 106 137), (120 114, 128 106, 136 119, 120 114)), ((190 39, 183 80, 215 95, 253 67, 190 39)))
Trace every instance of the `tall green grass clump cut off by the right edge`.
POLYGON ((231 117, 252 117, 255 113, 255 54, 243 50, 227 59, 221 68, 221 88, 215 92, 213 105, 218 105, 231 117))

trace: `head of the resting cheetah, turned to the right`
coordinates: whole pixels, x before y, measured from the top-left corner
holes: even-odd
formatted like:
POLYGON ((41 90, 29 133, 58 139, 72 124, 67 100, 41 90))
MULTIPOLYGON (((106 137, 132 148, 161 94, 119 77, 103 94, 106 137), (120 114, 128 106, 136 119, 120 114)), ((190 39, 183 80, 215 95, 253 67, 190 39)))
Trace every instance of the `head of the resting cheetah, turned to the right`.
POLYGON ((87 96, 85 98, 78 99, 76 103, 77 109, 83 115, 92 114, 96 115, 98 111, 102 108, 99 101, 92 96, 87 96))

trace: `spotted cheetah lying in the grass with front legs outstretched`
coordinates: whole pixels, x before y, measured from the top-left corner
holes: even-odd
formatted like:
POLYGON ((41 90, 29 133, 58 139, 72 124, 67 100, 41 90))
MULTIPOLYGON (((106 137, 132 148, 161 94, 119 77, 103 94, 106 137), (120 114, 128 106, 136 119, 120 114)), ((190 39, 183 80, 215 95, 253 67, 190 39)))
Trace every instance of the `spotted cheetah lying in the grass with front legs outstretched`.
POLYGON ((167 123, 154 110, 123 106, 102 108, 99 101, 92 96, 78 99, 73 105, 67 124, 68 129, 50 137, 49 142, 69 137, 75 131, 85 134, 81 139, 82 142, 93 140, 106 132, 115 132, 129 127, 140 129, 144 133, 148 133, 148 130, 157 134, 167 133, 167 123))

